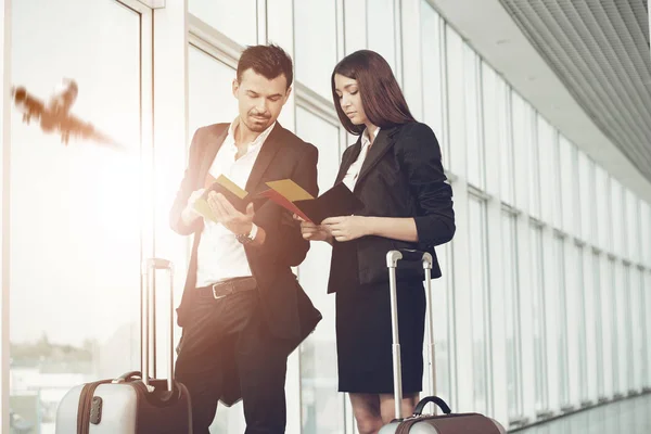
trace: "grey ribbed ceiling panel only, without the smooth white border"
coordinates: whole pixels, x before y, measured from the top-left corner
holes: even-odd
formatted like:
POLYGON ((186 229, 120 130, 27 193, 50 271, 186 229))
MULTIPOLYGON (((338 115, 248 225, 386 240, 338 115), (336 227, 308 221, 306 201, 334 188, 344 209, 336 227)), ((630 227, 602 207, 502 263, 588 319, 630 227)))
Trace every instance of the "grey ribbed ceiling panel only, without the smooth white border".
POLYGON ((500 0, 603 133, 651 180, 646 0, 500 0))

